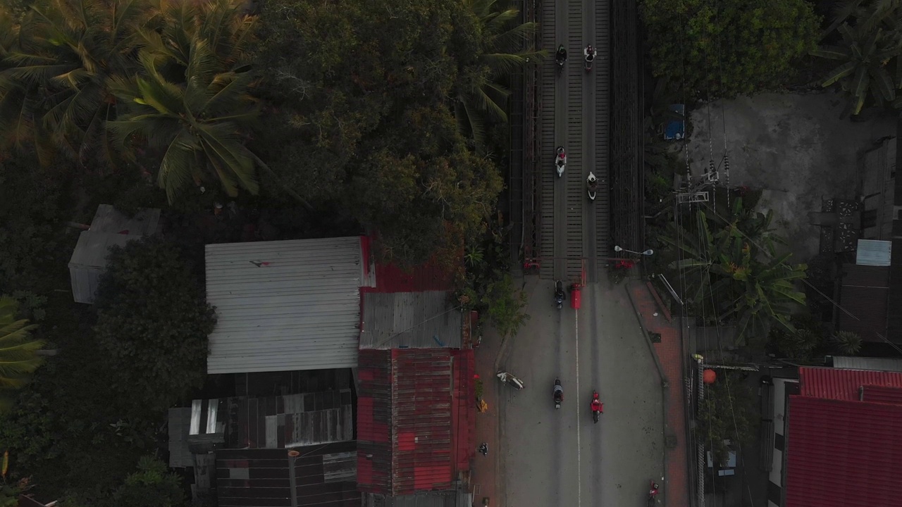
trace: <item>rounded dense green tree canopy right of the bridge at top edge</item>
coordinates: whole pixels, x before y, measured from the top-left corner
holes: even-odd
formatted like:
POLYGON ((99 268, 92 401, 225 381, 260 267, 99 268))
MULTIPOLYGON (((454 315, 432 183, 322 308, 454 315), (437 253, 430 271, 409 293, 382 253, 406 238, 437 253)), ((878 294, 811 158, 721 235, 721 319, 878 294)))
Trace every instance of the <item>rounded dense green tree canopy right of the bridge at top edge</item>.
POLYGON ((654 75, 704 98, 778 87, 820 23, 806 0, 641 0, 641 14, 654 75))

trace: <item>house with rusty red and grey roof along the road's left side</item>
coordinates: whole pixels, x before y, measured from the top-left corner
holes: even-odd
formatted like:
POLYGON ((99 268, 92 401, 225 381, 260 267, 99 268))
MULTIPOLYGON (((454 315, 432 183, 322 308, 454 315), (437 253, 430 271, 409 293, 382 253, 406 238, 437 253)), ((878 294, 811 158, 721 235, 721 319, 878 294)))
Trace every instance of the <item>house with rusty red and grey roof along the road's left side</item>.
POLYGON ((443 273, 377 264, 375 286, 364 290, 357 486, 366 506, 472 503, 473 316, 443 273))

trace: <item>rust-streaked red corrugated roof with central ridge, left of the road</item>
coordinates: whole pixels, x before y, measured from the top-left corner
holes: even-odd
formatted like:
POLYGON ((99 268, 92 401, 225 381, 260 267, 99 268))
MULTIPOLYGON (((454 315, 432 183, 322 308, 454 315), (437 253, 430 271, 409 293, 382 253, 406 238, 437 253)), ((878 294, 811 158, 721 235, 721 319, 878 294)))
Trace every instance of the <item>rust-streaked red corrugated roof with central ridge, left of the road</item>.
POLYGON ((360 490, 400 495, 449 489, 454 458, 450 352, 361 350, 358 375, 360 490))

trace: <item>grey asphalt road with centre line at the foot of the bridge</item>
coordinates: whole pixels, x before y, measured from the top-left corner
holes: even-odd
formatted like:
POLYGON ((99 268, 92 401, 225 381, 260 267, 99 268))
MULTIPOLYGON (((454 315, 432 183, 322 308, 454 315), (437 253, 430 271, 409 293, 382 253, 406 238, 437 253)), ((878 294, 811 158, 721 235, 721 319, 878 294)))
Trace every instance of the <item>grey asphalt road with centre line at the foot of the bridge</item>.
POLYGON ((649 480, 663 475, 664 414, 649 346, 621 286, 583 291, 582 309, 557 310, 552 281, 529 277, 528 325, 502 367, 526 388, 498 383, 502 460, 509 507, 644 507, 649 480), (555 410, 555 377, 565 400, 555 410), (592 391, 604 413, 594 424, 592 391))

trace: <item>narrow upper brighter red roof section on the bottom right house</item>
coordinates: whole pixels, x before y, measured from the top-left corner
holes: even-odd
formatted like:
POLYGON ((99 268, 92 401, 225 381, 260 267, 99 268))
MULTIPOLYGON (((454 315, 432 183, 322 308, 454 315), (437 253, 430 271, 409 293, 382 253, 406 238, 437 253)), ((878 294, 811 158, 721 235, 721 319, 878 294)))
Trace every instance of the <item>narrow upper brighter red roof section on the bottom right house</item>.
POLYGON ((832 400, 861 400, 861 386, 902 387, 902 373, 839 368, 798 369, 799 394, 832 400))

